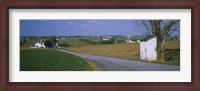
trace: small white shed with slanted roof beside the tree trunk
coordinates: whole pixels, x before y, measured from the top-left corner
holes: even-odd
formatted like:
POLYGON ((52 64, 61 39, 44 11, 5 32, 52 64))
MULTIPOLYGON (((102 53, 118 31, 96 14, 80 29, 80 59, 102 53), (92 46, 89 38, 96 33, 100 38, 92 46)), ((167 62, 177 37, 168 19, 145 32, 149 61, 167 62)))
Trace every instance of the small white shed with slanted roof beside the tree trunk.
POLYGON ((140 40, 140 59, 152 61, 157 59, 157 38, 155 36, 148 36, 140 40))

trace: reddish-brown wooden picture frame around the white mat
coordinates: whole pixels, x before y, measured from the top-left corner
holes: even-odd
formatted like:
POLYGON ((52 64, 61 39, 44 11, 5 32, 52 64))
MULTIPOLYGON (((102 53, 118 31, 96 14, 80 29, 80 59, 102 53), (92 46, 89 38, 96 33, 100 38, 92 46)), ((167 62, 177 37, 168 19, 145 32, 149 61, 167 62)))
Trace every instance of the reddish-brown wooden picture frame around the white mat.
MULTIPOLYGON (((199 0, 51 0, 1 2, 1 90, 200 91, 199 0), (9 9, 191 9, 192 82, 9 82, 9 9)), ((163 78, 165 79, 165 78, 163 78)))

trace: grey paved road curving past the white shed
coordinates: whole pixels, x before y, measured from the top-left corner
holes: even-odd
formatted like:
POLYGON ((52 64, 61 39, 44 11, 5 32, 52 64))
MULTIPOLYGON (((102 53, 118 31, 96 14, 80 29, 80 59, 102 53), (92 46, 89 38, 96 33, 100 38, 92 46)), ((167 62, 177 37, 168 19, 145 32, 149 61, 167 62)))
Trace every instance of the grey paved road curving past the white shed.
POLYGON ((70 52, 63 49, 57 49, 61 52, 74 54, 76 56, 89 59, 101 71, 179 71, 179 66, 171 66, 164 64, 155 64, 147 62, 138 62, 133 60, 125 60, 111 57, 101 57, 88 54, 80 54, 70 52))

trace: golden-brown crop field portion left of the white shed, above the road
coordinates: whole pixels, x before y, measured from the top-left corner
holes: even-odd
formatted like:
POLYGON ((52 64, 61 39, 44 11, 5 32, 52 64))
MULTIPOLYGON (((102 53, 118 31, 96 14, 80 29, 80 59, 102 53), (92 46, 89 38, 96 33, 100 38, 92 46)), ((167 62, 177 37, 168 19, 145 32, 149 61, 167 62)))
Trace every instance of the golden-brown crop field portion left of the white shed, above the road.
POLYGON ((80 45, 66 48, 67 50, 99 56, 108 56, 124 59, 137 59, 139 57, 139 44, 105 44, 80 45))

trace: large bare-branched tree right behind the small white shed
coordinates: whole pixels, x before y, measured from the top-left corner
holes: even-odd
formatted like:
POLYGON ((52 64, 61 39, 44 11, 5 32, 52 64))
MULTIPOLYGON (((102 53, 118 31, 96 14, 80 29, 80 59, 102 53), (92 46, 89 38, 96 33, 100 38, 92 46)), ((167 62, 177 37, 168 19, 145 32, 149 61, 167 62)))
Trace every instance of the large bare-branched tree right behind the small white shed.
POLYGON ((153 35, 157 37, 157 59, 159 61, 165 61, 165 40, 167 36, 170 36, 175 31, 180 29, 179 20, 145 20, 142 21, 142 25, 147 30, 147 35, 153 35))

